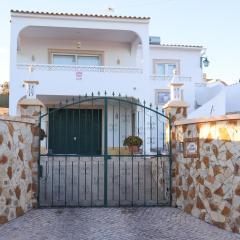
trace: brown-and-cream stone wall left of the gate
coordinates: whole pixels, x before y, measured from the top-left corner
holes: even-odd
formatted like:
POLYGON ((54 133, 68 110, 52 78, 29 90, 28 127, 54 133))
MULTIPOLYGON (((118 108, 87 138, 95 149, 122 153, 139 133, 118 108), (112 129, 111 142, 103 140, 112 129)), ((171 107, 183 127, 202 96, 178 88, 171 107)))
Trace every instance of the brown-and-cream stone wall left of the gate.
POLYGON ((0 224, 37 206, 35 120, 0 117, 0 224))

